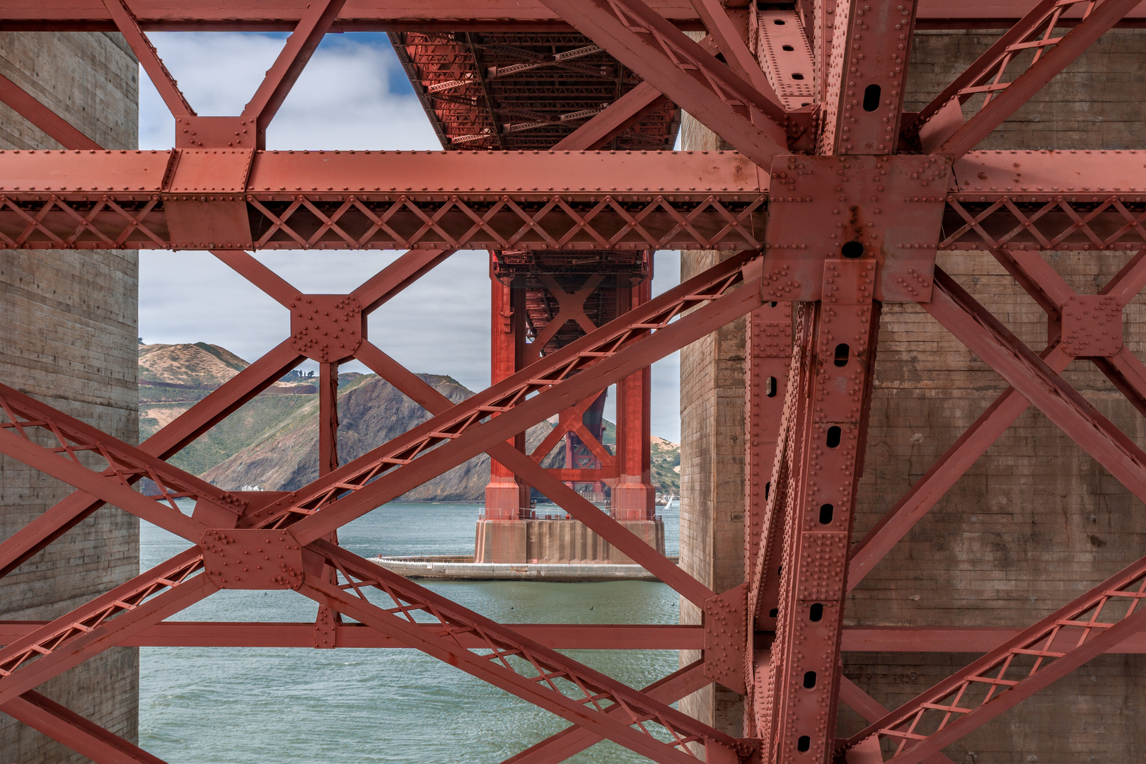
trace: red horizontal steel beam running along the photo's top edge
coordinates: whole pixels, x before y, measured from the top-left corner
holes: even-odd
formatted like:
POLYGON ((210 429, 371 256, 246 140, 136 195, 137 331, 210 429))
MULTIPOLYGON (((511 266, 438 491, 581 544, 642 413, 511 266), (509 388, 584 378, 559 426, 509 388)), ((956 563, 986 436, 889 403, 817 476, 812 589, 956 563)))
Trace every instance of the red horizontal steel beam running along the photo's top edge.
MULTIPOLYGON (((228 0, 188 5, 180 0, 133 0, 132 10, 146 31, 292 31, 307 0, 283 0, 268 11, 259 0, 228 0)), ((649 0, 647 5, 681 29, 701 30, 700 17, 688 0, 649 0)), ((1011 26, 1035 3, 943 0, 919 2, 918 29, 1000 29, 1011 26)), ((1069 16, 1068 16, 1069 19, 1069 16)), ((1146 22, 1146 5, 1123 21, 1146 22)), ((7 0, 0 23, 8 30, 116 31, 101 0, 7 0)), ((405 30, 554 31, 570 26, 536 0, 452 0, 449 2, 387 2, 348 0, 332 32, 405 30)))

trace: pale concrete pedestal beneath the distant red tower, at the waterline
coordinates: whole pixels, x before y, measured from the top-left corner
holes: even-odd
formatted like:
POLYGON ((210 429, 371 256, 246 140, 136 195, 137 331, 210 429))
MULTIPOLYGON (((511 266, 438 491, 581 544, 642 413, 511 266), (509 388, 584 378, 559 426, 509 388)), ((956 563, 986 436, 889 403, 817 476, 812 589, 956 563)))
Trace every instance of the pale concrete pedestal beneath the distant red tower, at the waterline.
MULTIPOLYGON (((638 538, 665 553, 665 521, 621 520, 638 538)), ((478 520, 474 562, 612 562, 633 560, 579 520, 478 520)))

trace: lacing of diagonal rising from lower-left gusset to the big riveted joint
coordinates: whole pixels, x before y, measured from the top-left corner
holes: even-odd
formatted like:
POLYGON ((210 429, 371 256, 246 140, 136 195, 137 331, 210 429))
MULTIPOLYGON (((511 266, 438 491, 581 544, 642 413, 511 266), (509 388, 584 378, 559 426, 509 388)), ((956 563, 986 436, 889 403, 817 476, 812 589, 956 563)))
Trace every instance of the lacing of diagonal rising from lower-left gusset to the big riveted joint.
MULTIPOLYGON (((410 464, 439 443, 461 438, 471 427, 486 422, 490 415, 510 411, 532 395, 611 357, 630 341, 668 326, 682 313, 729 292, 741 281, 743 266, 756 257, 758 253, 748 252, 725 260, 722 267, 713 269, 715 274, 693 279, 682 285, 686 289, 678 288, 630 312, 629 315, 639 316, 638 322, 626 323, 626 316, 622 316, 544 356, 489 391, 468 399, 331 473, 329 482, 320 481, 311 491, 288 497, 290 503, 285 509, 270 505, 268 511, 273 514, 259 519, 258 527, 280 528, 313 514, 364 488, 392 468, 410 464)), ((258 514, 254 517, 258 518, 258 514)))

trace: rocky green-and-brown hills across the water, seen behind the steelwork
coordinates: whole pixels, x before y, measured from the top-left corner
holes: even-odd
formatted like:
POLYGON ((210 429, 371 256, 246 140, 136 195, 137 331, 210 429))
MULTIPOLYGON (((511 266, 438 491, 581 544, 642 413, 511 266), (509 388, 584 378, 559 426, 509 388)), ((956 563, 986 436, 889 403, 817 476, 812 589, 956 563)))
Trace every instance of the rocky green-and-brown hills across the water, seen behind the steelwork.
MULTIPOLYGON (((226 348, 194 345, 140 345, 140 438, 203 399, 245 369, 248 363, 226 348)), ((472 395, 455 379, 418 375, 454 402, 472 395)), ((256 396, 218 426, 172 457, 172 464, 228 490, 293 490, 319 475, 319 396, 313 377, 292 372, 256 396)), ((338 392, 338 451, 354 459, 429 419, 429 413, 376 375, 343 373, 338 392)), ((526 442, 535 447, 552 425, 532 427, 526 442)), ((613 425, 606 423, 605 441, 613 425)), ((564 462, 559 446, 547 466, 564 462)), ((659 438, 652 443, 653 483, 661 493, 680 493, 680 448, 659 438), (674 472, 674 467, 676 471, 674 472)), ((406 501, 480 502, 489 479, 489 458, 476 457, 419 486, 406 501)))

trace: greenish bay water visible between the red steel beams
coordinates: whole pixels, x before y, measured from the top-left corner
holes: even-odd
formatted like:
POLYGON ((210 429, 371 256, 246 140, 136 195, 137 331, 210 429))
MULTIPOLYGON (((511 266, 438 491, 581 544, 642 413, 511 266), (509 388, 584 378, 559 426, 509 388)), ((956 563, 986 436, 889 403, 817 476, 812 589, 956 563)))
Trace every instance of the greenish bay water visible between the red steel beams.
MULTIPOLYGON (((678 509, 659 509, 666 551, 676 554, 678 509)), ((339 543, 362 557, 472 554, 480 511, 393 502, 340 529, 339 543)), ((187 548, 141 526, 144 570, 187 548)), ((677 596, 657 582, 419 583, 502 623, 680 620, 677 596)), ((315 612, 313 600, 293 591, 220 591, 172 620, 313 621, 315 612)), ((634 687, 678 667, 675 651, 563 652, 634 687)), ((565 726, 415 649, 140 649, 140 746, 172 764, 496 764, 565 726)), ((604 741, 570 761, 647 759, 604 741)))

